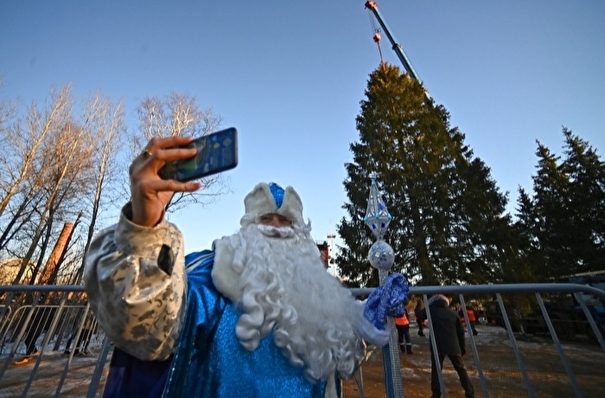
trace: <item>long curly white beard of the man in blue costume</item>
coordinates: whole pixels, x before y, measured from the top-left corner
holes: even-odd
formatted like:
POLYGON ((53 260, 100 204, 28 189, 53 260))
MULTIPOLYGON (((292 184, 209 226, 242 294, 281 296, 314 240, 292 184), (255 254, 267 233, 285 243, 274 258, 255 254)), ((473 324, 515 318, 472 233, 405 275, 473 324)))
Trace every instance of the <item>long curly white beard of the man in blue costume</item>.
POLYGON ((242 346, 255 350, 273 331, 274 343, 310 380, 352 376, 364 353, 355 327, 360 303, 326 272, 310 226, 242 225, 233 265, 241 273, 242 346))

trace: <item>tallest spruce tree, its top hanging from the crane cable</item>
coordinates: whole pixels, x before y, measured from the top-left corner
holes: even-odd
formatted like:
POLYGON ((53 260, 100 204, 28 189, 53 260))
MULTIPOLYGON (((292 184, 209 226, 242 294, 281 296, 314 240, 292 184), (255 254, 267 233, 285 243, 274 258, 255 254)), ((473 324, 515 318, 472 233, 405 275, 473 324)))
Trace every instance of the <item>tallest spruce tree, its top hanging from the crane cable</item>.
POLYGON ((385 240, 397 270, 425 285, 498 279, 509 218, 489 168, 450 128, 446 109, 428 103, 421 84, 396 66, 372 72, 365 95, 359 141, 346 164, 348 217, 338 225, 343 277, 353 286, 378 284, 367 261, 374 239, 363 220, 375 175, 393 215, 385 240))

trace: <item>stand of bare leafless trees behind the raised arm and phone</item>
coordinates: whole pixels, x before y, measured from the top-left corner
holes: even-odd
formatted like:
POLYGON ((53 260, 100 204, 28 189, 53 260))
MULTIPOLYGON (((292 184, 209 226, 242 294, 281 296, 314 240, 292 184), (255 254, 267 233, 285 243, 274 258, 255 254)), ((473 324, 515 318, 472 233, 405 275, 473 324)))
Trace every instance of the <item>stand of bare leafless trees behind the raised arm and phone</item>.
MULTIPOLYGON (((5 104, 0 103, 0 260, 20 262, 13 283, 36 283, 41 273, 45 283, 80 283, 83 253, 104 226, 103 215, 112 206, 118 211, 117 204, 130 196, 126 163, 152 137, 200 136, 220 123, 195 98, 178 94, 144 100, 137 109, 139 129, 131 135, 121 101, 96 93, 76 107, 70 85, 52 89, 42 108, 33 102, 23 120, 5 104), (60 257, 49 261, 69 223, 73 230, 60 257), (50 263, 52 270, 46 269, 50 263)), ((178 195, 170 210, 208 204, 224 193, 220 176, 202 182, 205 189, 178 195)))

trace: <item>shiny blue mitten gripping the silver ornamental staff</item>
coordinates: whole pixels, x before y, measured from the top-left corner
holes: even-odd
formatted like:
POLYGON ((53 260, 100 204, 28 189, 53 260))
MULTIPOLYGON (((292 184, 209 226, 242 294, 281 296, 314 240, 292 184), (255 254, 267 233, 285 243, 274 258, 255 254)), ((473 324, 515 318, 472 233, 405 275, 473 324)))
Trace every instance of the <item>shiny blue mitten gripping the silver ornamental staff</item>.
POLYGON ((366 301, 363 316, 378 330, 384 330, 387 316, 403 315, 403 302, 409 297, 410 287, 402 274, 396 272, 381 287, 372 291, 366 301))

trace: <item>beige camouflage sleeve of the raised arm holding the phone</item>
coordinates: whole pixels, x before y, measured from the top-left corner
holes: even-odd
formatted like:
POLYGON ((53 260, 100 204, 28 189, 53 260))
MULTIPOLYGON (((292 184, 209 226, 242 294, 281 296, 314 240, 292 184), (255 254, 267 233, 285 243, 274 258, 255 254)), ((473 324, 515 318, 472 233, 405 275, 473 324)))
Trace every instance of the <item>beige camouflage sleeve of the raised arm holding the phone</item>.
POLYGON ((118 223, 93 240, 84 268, 91 308, 111 341, 141 360, 168 358, 184 312, 183 238, 166 221, 147 228, 118 223))

